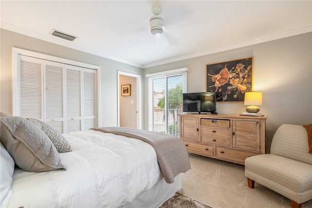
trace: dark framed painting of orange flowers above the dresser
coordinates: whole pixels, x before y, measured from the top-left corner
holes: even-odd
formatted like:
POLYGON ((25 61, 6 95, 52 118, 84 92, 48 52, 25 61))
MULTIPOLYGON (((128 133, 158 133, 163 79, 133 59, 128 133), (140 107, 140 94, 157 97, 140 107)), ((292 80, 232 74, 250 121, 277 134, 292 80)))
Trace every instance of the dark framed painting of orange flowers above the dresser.
POLYGON ((207 92, 217 102, 243 102, 253 88, 253 57, 206 64, 207 92))

